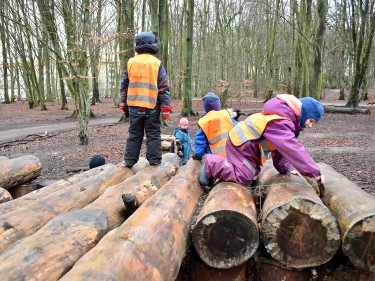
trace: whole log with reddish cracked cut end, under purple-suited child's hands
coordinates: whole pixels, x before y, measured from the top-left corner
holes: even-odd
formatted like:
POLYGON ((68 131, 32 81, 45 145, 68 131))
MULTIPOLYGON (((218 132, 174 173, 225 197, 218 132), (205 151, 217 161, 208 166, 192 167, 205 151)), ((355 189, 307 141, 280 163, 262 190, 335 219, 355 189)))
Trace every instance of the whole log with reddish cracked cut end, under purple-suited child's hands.
POLYGON ((271 256, 299 269, 329 261, 340 247, 339 226, 305 178, 279 175, 267 163, 258 180, 268 185, 261 233, 271 256))

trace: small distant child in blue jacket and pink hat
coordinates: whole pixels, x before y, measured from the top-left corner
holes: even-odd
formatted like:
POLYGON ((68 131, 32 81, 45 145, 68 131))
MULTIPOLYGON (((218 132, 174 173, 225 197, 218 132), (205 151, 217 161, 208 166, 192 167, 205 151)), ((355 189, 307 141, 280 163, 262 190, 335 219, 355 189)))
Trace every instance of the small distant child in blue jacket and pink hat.
POLYGON ((189 120, 181 118, 180 127, 174 130, 173 138, 169 151, 177 153, 181 158, 182 165, 185 165, 189 161, 191 153, 189 120))

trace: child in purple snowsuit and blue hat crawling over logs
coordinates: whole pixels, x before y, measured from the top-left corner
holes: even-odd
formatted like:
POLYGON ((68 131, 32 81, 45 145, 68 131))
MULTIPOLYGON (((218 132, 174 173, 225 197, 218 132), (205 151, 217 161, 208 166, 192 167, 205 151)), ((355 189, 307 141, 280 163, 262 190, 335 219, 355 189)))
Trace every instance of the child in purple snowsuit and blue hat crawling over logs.
POLYGON ((250 184, 271 152, 281 174, 307 176, 324 183, 314 159, 297 140, 299 132, 311 128, 323 115, 321 103, 282 94, 267 101, 262 113, 250 115, 229 133, 226 157, 207 155, 199 182, 212 187, 214 179, 250 184))

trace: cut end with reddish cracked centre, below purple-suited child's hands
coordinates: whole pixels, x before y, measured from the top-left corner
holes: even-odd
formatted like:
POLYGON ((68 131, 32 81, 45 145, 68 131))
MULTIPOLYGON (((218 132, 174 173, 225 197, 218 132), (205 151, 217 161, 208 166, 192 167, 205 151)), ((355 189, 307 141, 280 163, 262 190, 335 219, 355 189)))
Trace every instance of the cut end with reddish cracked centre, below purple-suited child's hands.
POLYGON ((297 199, 273 209, 262 226, 267 251, 291 268, 329 261, 340 247, 336 219, 323 205, 297 199))

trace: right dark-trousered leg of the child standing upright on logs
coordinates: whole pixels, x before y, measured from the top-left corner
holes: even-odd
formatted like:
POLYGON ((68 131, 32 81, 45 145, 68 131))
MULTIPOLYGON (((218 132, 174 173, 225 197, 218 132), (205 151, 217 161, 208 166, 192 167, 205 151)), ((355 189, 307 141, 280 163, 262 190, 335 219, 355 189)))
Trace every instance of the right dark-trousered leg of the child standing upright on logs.
POLYGON ((146 159, 150 165, 157 165, 161 162, 162 157, 159 114, 146 118, 145 131, 147 138, 146 159))

